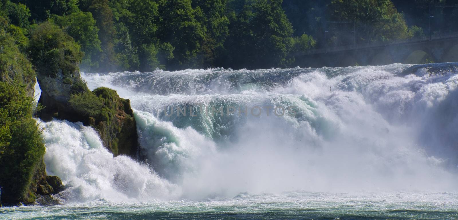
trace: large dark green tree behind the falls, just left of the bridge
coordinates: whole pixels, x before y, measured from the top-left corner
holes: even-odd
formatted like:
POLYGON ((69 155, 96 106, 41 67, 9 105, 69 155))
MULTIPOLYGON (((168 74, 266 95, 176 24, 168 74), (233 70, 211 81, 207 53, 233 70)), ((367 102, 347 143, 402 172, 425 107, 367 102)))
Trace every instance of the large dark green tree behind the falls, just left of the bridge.
POLYGON ((293 28, 282 0, 247 1, 240 13, 231 12, 226 63, 233 68, 285 66, 293 28))

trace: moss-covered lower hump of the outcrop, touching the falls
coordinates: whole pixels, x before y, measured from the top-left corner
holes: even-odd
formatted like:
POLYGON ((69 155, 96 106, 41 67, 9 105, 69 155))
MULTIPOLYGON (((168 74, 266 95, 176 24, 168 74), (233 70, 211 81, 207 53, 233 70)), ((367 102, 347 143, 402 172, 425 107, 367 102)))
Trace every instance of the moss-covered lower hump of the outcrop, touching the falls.
POLYGON ((100 87, 71 94, 67 103, 42 93, 39 103, 42 120, 53 117, 72 122, 82 121, 98 131, 104 147, 114 156, 136 157, 138 149, 136 122, 129 100, 119 97, 115 90, 100 87))

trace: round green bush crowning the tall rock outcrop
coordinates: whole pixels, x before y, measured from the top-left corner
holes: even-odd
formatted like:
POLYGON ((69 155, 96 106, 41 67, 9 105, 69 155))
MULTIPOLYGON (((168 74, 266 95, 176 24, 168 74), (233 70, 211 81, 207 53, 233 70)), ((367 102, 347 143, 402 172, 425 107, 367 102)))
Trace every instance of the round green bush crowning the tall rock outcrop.
POLYGON ((48 21, 32 26, 28 52, 37 71, 50 77, 55 77, 58 71, 64 76, 78 71, 83 57, 80 45, 48 21))

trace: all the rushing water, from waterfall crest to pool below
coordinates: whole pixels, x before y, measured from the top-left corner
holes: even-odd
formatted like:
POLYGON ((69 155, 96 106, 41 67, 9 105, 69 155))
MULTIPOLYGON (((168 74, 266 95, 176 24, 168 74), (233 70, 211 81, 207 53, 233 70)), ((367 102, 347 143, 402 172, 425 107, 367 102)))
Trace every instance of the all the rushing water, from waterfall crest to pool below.
POLYGON ((62 205, 0 217, 458 218, 457 71, 406 68, 83 74, 131 100, 144 159, 40 122, 62 205))

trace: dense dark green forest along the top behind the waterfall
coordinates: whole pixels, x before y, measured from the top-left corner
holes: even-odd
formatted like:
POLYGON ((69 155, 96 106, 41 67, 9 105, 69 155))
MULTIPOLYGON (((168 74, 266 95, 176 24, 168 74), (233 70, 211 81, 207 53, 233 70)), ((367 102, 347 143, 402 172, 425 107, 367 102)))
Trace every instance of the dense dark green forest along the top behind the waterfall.
POLYGON ((458 0, 0 2, 22 47, 50 21, 80 45, 85 71, 285 67, 310 48, 427 35, 430 6, 432 33, 458 31, 458 0))

